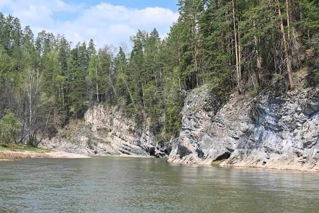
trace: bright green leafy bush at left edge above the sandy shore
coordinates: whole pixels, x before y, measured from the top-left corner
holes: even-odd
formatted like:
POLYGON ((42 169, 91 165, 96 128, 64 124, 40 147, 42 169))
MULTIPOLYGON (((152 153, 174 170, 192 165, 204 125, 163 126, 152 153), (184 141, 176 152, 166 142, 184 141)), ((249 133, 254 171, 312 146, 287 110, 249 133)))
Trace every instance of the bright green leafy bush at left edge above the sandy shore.
POLYGON ((18 130, 21 122, 15 118, 15 115, 8 109, 4 110, 5 115, 0 119, 1 141, 9 143, 18 137, 18 130))

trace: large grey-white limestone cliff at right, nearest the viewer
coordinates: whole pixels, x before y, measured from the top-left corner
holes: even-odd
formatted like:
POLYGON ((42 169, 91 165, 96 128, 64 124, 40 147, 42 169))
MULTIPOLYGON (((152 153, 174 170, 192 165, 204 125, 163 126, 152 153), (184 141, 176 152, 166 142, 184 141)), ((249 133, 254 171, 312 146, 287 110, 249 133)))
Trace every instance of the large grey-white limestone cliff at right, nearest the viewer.
POLYGON ((256 97, 232 95, 221 105, 196 89, 182 110, 182 129, 169 161, 319 171, 316 89, 256 97))

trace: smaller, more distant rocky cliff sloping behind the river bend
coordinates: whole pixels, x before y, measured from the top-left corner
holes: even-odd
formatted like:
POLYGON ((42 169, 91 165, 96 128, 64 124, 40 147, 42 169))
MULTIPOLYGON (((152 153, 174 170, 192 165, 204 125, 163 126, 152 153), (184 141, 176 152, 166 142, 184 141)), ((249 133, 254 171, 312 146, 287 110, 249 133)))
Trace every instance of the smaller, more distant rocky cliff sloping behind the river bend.
POLYGON ((86 154, 167 157, 171 143, 158 142, 147 124, 139 126, 118 109, 95 105, 85 121, 70 123, 56 137, 43 140, 41 148, 86 154))

